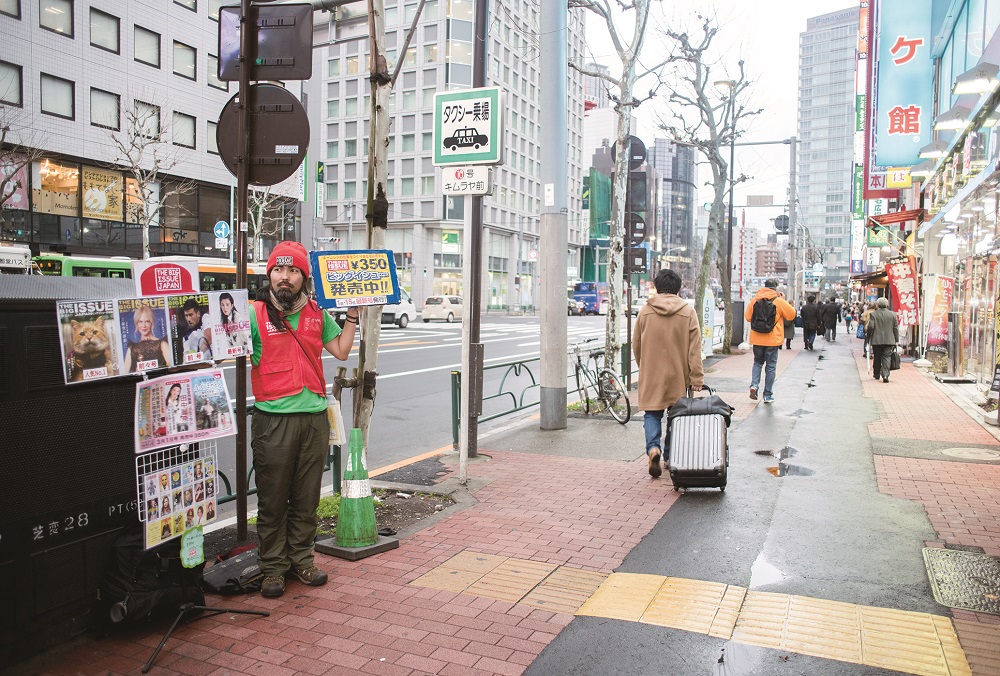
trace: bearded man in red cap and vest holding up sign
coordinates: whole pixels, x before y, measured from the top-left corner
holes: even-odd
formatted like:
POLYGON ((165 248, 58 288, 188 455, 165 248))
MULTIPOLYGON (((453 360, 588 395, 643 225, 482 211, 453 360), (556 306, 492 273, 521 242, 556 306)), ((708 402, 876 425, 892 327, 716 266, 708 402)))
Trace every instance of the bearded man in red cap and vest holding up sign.
POLYGON ((316 507, 330 443, 323 348, 344 361, 354 345, 358 311, 344 330, 309 300, 309 259, 298 242, 281 242, 267 259, 268 284, 250 313, 250 382, 256 398, 250 427, 257 475, 261 596, 285 593, 285 577, 326 584, 313 562, 316 507))

